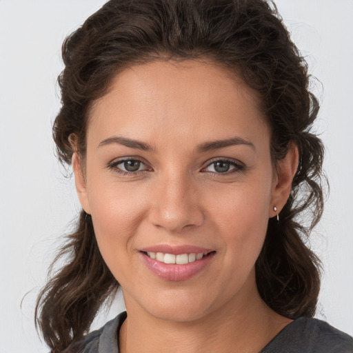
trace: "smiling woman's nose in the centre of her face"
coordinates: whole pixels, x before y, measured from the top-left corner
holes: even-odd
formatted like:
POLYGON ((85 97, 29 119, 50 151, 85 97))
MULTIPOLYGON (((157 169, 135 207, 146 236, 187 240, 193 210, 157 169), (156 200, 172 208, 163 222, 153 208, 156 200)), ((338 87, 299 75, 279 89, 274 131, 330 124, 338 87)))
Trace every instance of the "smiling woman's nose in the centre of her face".
POLYGON ((171 233, 202 225, 205 211, 201 194, 188 176, 163 177, 156 180, 152 190, 150 223, 171 233))

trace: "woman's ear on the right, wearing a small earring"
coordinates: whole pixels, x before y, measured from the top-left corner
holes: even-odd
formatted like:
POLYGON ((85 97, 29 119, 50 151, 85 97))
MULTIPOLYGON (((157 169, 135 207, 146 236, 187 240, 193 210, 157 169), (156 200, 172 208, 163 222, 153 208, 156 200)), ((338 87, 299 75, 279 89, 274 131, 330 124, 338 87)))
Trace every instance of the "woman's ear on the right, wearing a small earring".
POLYGON ((281 212, 290 196, 292 181, 298 168, 299 152, 296 145, 292 145, 284 159, 279 161, 276 168, 276 179, 272 190, 269 216, 274 217, 281 212), (274 211, 274 206, 277 210, 274 211))

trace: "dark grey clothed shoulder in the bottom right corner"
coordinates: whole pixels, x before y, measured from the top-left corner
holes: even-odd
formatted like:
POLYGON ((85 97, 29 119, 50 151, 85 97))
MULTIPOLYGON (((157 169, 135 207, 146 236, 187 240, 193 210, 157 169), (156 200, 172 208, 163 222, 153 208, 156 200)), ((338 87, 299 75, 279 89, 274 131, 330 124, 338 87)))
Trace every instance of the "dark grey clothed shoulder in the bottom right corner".
POLYGON ((261 353, 352 353, 353 338, 325 321, 305 318, 287 325, 261 353))

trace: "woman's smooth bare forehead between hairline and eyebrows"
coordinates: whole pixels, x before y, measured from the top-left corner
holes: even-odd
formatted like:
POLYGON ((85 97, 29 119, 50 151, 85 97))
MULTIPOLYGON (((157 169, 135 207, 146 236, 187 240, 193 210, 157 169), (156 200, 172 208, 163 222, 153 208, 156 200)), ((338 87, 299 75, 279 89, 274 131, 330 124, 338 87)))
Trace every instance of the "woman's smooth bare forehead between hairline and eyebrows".
POLYGON ((92 106, 88 125, 88 135, 100 139, 122 134, 157 142, 162 134, 171 142, 186 134, 202 141, 228 133, 268 135, 259 98, 234 72, 194 60, 123 70, 92 106))

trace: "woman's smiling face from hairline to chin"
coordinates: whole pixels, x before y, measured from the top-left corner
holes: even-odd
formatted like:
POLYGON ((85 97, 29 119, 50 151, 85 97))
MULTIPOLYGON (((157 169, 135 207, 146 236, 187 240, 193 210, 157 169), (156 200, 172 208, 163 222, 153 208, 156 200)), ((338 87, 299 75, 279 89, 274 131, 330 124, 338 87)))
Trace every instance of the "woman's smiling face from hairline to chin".
POLYGON ((257 293, 254 263, 286 198, 240 79, 196 61, 124 70, 90 112, 84 179, 74 165, 128 308, 191 321, 257 293))

